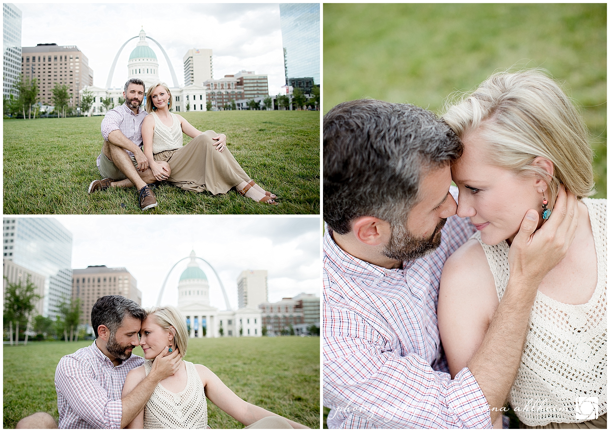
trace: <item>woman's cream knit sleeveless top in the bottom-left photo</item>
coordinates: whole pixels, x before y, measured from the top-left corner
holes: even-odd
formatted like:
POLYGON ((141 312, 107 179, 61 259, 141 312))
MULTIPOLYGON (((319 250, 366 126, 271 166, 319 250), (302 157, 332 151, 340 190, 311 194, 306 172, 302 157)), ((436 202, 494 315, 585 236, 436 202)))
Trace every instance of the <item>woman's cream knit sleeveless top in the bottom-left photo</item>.
MULTIPOLYGON (((184 361, 187 368, 187 386, 172 393, 157 384, 144 407, 145 429, 206 429, 207 402, 203 383, 195 365, 184 361)), ((146 375, 151 371, 152 360, 144 362, 146 375)))

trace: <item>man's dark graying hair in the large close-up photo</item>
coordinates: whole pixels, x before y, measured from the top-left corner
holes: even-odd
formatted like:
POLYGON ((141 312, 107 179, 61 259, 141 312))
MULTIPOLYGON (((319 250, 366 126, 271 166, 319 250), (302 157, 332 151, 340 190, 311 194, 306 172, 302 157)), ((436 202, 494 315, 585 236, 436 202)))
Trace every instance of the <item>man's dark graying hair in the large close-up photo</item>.
POLYGON ((446 123, 411 104, 345 102, 324 116, 323 133, 324 220, 338 234, 361 216, 404 225, 422 171, 462 154, 446 123))

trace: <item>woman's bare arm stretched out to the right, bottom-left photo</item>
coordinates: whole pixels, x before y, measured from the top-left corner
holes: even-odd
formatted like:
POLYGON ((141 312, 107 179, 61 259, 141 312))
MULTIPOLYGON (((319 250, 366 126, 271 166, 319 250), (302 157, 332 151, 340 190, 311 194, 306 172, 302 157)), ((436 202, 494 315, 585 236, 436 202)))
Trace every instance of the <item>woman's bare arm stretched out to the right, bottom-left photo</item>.
MULTIPOLYGON (((260 408, 260 406, 252 405, 246 402, 238 395, 224 385, 223 381, 211 370, 207 369, 204 365, 195 365, 201 382, 203 383, 206 397, 211 400, 214 405, 222 409, 224 412, 229 414, 238 422, 248 426, 260 419, 264 419, 269 416, 278 416, 274 412, 267 411, 267 409, 260 408)), ((285 419, 285 417, 282 417, 285 419)), ((295 429, 309 429, 308 427, 301 425, 300 423, 293 422, 292 420, 285 419, 295 429)))

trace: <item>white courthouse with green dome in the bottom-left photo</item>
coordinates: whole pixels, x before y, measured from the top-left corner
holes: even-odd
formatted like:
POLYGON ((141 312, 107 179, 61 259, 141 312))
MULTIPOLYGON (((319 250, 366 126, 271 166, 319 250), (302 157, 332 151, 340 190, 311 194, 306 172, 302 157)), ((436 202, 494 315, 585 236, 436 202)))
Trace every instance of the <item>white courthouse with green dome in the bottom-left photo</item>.
MULTIPOLYGON (((239 286, 242 275, 248 272, 264 272, 265 284, 256 284, 249 290, 250 297, 258 299, 264 290, 267 297, 267 270, 245 270, 238 278, 239 286)), ((254 273, 253 273, 254 274, 254 273)), ((206 273, 196 261, 195 251, 190 254, 188 267, 180 275, 178 283, 178 310, 187 323, 190 337, 260 337, 262 336, 262 314, 240 298, 237 311, 220 311, 210 306, 210 286, 206 273)), ((238 293, 239 297, 239 293, 238 293)))

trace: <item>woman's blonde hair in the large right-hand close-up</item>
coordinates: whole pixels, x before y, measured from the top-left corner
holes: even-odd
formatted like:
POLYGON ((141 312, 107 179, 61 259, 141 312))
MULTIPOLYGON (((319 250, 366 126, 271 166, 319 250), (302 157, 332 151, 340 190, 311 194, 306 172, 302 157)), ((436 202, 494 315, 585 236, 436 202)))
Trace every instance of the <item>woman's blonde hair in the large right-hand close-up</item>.
POLYGON ((594 193, 587 128, 544 70, 495 73, 457 103, 447 103, 442 117, 460 139, 480 128, 492 164, 544 179, 550 207, 559 184, 578 198, 594 193), (553 176, 532 164, 537 156, 553 162, 553 176))

